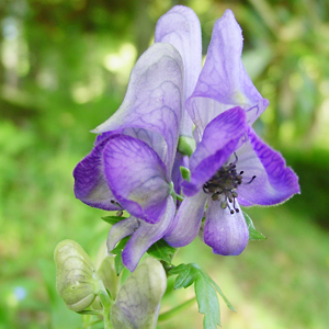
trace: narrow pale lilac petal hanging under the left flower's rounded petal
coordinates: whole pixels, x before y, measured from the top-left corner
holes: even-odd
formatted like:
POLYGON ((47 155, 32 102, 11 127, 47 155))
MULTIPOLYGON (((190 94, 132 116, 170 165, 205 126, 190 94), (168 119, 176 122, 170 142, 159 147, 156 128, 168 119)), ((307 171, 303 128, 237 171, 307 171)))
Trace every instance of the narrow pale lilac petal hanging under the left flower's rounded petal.
POLYGON ((163 237, 171 226, 174 212, 175 205, 172 196, 169 195, 166 200, 166 212, 159 223, 149 224, 139 220, 139 227, 134 231, 122 253, 123 263, 129 271, 133 272, 147 249, 163 237))

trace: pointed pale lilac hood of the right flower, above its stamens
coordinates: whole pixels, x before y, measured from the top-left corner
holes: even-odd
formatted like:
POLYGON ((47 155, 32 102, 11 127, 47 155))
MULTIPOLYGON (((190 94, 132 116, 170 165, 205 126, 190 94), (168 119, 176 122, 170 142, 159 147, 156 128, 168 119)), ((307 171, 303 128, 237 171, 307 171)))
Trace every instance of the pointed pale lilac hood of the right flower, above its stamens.
POLYGON ((251 125, 266 109, 241 61, 242 33, 232 12, 226 10, 214 26, 207 57, 186 109, 202 135, 206 124, 232 106, 247 113, 251 125))

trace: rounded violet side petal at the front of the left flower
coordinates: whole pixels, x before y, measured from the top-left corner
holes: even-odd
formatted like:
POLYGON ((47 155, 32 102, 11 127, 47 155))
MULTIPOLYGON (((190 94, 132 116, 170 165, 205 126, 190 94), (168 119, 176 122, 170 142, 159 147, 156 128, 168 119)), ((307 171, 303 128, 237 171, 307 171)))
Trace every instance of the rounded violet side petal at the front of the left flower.
POLYGON ((106 182, 123 208, 137 218, 157 223, 170 192, 158 154, 143 140, 117 135, 107 141, 103 161, 106 182))

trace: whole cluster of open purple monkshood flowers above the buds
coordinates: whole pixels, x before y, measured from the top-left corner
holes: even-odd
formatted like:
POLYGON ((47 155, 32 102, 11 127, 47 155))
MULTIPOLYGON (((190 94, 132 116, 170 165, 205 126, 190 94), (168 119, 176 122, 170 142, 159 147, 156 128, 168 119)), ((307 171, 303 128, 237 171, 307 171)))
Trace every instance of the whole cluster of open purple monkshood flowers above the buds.
POLYGON ((249 239, 240 205, 274 205, 299 193, 296 174, 251 126, 269 102, 245 70, 230 10, 215 23, 203 67, 201 48, 191 9, 177 5, 161 16, 122 105, 93 131, 94 148, 73 171, 82 202, 131 214, 107 239, 111 251, 131 236, 122 254, 131 271, 157 240, 186 246, 201 226, 215 253, 239 254, 249 239))

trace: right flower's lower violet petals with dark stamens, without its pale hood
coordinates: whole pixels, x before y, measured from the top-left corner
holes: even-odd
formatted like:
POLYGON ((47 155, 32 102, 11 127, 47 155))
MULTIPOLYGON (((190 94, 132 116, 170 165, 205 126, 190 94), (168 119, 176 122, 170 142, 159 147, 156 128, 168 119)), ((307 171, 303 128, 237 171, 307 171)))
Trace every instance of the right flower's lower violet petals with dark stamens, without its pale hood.
POLYGON ((173 247, 190 243, 205 216, 205 243, 217 254, 239 254, 249 239, 239 204, 275 205, 299 193, 296 174, 257 136, 239 106, 206 125, 190 158, 190 182, 182 183, 188 197, 167 237, 173 247))

